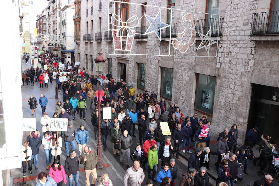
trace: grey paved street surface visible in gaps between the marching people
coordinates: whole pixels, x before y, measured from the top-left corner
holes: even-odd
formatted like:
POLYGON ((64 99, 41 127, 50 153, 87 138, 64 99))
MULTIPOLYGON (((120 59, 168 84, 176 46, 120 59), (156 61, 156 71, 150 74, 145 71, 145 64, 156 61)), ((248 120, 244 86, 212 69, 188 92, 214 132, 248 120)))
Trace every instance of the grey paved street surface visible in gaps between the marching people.
MULTIPOLYGON (((22 69, 25 69, 25 67, 26 67, 26 65, 23 64, 22 69)), ((31 94, 34 95, 34 97, 38 101, 41 93, 43 93, 48 98, 49 102, 47 104, 46 112, 49 114, 50 117, 52 117, 53 113, 55 112, 54 111, 54 105, 57 102, 57 100, 55 99, 55 84, 50 84, 49 83, 48 88, 42 88, 42 89, 39 88, 39 83, 38 82, 35 82, 35 86, 23 86, 22 87, 22 99, 23 99, 22 104, 23 104, 24 118, 36 118, 37 129, 38 129, 38 131, 40 131, 41 136, 42 136, 42 125, 40 124, 40 119, 42 117, 41 107, 40 107, 40 105, 38 105, 37 114, 32 117, 31 116, 31 110, 30 110, 29 105, 28 105, 28 99, 29 99, 31 94)), ((62 101, 62 91, 59 91, 59 100, 62 101)), ((94 106, 93 106, 93 108, 94 108, 94 106)), ((87 110, 86 110, 86 120, 85 121, 80 120, 79 117, 77 116, 76 120, 73 121, 73 124, 74 124, 75 129, 79 128, 80 124, 85 125, 85 128, 88 129, 89 135, 90 135, 88 145, 91 148, 93 148, 97 151, 97 140, 94 139, 94 128, 91 124, 91 113, 93 111, 93 108, 92 109, 90 109, 89 107, 87 108, 87 110)), ((167 106, 167 108, 168 108, 168 106, 167 106)), ((163 117, 164 121, 167 121, 166 117, 167 117, 167 113, 164 114, 164 117, 163 117)), ((214 124, 213 124, 213 126, 214 126, 214 124)), ((136 126, 136 128, 137 128, 137 126, 136 126)), ((28 134, 29 134, 29 132, 28 132, 28 134)), ((136 138, 132 137, 132 139, 133 139, 132 148, 134 148, 135 144, 139 141, 139 139, 138 139, 139 133, 138 133, 137 130, 135 132, 135 135, 137 136, 136 138)), ((24 138, 24 136, 23 136, 23 138, 24 138)), ((215 140, 216 140, 216 138, 211 138, 211 143, 212 143, 210 145, 211 151, 216 150, 216 141, 215 140)), ((117 157, 113 156, 113 144, 111 143, 111 136, 110 135, 108 135, 107 145, 108 145, 107 150, 103 151, 103 164, 104 164, 105 168, 101 169, 101 170, 97 170, 97 175, 101 176, 104 173, 108 173, 109 177, 112 180, 114 185, 116 185, 116 186, 117 185, 122 185, 123 184, 123 179, 122 178, 125 174, 126 166, 125 165, 124 166, 120 165, 120 163, 119 163, 120 162, 120 157, 119 156, 117 156, 117 157)), ((193 145, 193 142, 192 142, 192 145, 193 145)), ((191 150, 193 152, 193 149, 191 149, 191 150)), ((77 145, 76 145, 75 151, 79 155, 77 145)), ((257 149, 254 150, 255 153, 257 153, 257 151, 258 151, 257 149)), ((181 175, 184 173, 185 170, 187 170, 187 164, 188 164, 187 158, 189 158, 189 153, 182 153, 182 151, 180 153, 181 153, 181 155, 180 155, 181 159, 178 160, 178 159, 175 158, 176 164, 178 165, 178 174, 177 174, 178 177, 177 177, 177 180, 176 180, 176 185, 179 185, 181 175)), ((256 156, 258 156, 258 155, 256 155, 256 156)), ((64 148, 64 142, 63 142, 62 154, 61 154, 62 165, 64 165, 65 158, 66 158, 66 155, 65 155, 65 148, 64 148)), ((217 157, 214 156, 214 155, 211 155, 211 157, 210 157, 210 168, 211 168, 211 170, 209 170, 208 173, 212 176, 212 177, 210 177, 210 184, 212 184, 212 185, 215 185, 215 183, 216 183, 213 178, 214 177, 215 177, 215 179, 217 178, 217 173, 216 173, 215 167, 213 165, 216 162, 216 160, 217 160, 217 157)), ((52 162, 53 162, 53 159, 52 159, 52 162)), ((125 162, 125 159, 124 159, 123 162, 125 162)), ((159 166, 160 165, 161 165, 161 162, 159 162, 159 166)), ((132 166, 131 161, 130 161, 130 166, 132 166)), ((81 185, 85 185, 85 181, 84 181, 85 180, 85 175, 84 175, 84 172, 82 172, 83 171, 83 169, 82 169, 83 166, 80 165, 80 168, 81 168, 80 169, 81 172, 79 174, 79 182, 80 182, 81 185)), ((242 181, 238 181, 236 185, 239 185, 239 186, 253 185, 253 182, 256 179, 260 179, 260 177, 257 175, 258 169, 259 169, 258 166, 257 167, 253 166, 252 161, 249 161, 249 166, 248 166, 249 175, 245 175, 245 178, 242 181)), ((158 171, 159 170, 160 169, 158 168, 158 171)), ((34 179, 36 178, 36 175, 38 175, 38 173, 41 172, 41 171, 48 172, 48 170, 46 170, 46 160, 45 160, 45 154, 44 154, 42 145, 41 145, 40 151, 39 151, 38 170, 35 170, 35 168, 33 166, 32 171, 33 171, 33 175, 30 176, 27 173, 27 177, 24 178, 24 180, 23 180, 22 179, 22 169, 21 168, 11 170, 11 176, 14 178, 14 183, 22 182, 22 181, 28 181, 27 183, 29 183, 31 185, 35 185, 34 179)), ((145 173, 145 180, 144 180, 143 183, 145 184, 146 180, 148 179, 147 169, 144 170, 144 173, 145 173)), ((97 180, 99 180, 99 178, 97 180)), ((279 185, 278 182, 279 182, 278 178, 273 179, 273 185, 279 185)), ((144 184, 142 184, 142 185, 144 185, 144 184)), ((158 184, 156 183, 154 185, 158 185, 158 184)))

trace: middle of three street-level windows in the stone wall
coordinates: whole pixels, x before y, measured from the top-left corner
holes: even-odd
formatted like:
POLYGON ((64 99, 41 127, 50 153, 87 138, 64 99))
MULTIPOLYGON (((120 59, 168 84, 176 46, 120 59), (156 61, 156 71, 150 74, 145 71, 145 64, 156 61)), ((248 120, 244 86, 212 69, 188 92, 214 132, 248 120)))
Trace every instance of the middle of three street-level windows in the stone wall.
POLYGON ((173 69, 162 67, 161 74, 161 97, 171 100, 173 83, 173 69))

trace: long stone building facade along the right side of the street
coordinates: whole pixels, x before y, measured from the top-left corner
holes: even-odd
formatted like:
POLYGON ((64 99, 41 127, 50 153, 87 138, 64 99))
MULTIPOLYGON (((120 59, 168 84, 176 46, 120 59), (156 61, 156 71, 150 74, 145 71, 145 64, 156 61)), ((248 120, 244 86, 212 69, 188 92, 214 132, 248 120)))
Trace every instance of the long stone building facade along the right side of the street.
MULTIPOLYGON (((75 59, 80 61, 81 66, 86 67, 89 73, 96 73, 93 59, 98 52, 103 52, 103 56, 107 58, 104 74, 112 69, 114 79, 125 78, 128 85, 133 84, 137 92, 155 91, 159 100, 165 98, 167 108, 170 103, 177 103, 184 116, 192 116, 194 112, 198 113, 198 117, 206 114, 208 120, 212 121, 215 135, 218 134, 217 131, 221 132, 224 128, 231 128, 233 124, 237 124, 239 144, 245 141, 246 131, 253 126, 258 126, 261 129, 260 133, 266 132, 271 135, 273 134, 271 127, 279 128, 279 125, 274 125, 276 120, 272 116, 279 113, 279 99, 277 99, 279 97, 279 36, 276 35, 279 26, 278 23, 272 23, 276 16, 278 19, 279 14, 276 1, 130 0, 130 2, 202 13, 217 11, 222 22, 219 30, 221 36, 219 39, 213 37, 219 40, 218 47, 216 48, 216 45, 210 47, 210 51, 217 49, 217 56, 108 55, 107 37, 109 50, 113 48, 110 38, 112 36, 106 33, 108 9, 112 12, 113 6, 109 6, 109 2, 104 0, 102 2, 76 0, 75 4, 81 5, 80 39, 75 41, 75 59), (260 17, 262 19, 259 19, 260 17), (272 28, 270 25, 273 25, 272 28), (145 64, 144 87, 139 86, 138 81, 141 64, 145 64), (165 68, 168 70, 165 71, 165 68), (172 75, 168 76, 171 71, 173 71, 172 75), (171 91, 170 97, 163 96, 162 93, 164 91, 162 86, 165 86, 162 80, 166 76, 171 78, 170 81, 166 80, 167 86, 171 87, 166 88, 164 95, 171 91), (208 82, 204 82, 205 78, 208 82), (203 90, 209 85, 211 92, 203 90), (209 104, 204 102, 206 96, 211 96, 209 104), (208 109, 209 107, 212 108, 208 109)), ((152 9, 147 9, 146 12, 153 17, 156 15, 152 9)), ((135 15, 135 12, 128 9, 128 15, 129 17, 135 15)), ((162 11, 163 22, 168 22, 168 16, 167 11, 162 11)), ((174 16, 174 22, 177 21, 177 17, 174 16)), ((149 26, 149 24, 146 21, 142 26, 149 26)), ((152 51, 156 45, 155 40, 155 37, 154 40, 135 38, 132 50, 152 51)), ((201 40, 197 39, 195 46, 200 43, 201 40)))

